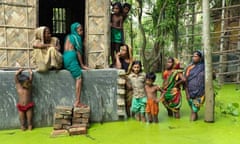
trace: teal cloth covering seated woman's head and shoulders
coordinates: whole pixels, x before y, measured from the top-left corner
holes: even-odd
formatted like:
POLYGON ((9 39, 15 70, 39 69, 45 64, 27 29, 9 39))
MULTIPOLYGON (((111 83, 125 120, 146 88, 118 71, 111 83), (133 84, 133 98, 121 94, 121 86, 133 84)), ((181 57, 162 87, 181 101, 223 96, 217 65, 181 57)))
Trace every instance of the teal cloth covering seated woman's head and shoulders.
POLYGON ((71 25, 71 34, 68 35, 68 39, 70 43, 74 46, 74 48, 79 51, 82 55, 83 50, 82 50, 82 38, 77 32, 77 28, 81 26, 80 23, 75 22, 71 25))

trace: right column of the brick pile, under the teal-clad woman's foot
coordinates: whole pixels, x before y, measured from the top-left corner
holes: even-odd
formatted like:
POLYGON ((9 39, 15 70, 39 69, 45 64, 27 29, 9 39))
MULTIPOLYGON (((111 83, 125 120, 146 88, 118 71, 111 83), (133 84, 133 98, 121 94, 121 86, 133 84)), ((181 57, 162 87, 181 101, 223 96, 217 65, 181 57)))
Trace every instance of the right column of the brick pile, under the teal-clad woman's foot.
POLYGON ((72 126, 69 128, 70 135, 86 134, 89 127, 90 107, 73 108, 72 126))

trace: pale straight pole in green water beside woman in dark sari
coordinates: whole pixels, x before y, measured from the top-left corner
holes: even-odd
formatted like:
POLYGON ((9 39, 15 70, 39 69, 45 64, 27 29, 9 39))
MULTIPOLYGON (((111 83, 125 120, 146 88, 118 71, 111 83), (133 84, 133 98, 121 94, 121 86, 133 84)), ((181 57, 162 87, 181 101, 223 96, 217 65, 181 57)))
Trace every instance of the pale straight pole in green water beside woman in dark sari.
POLYGON ((214 93, 212 79, 212 51, 210 47, 210 17, 209 17, 209 0, 203 0, 203 46, 205 60, 205 122, 214 122, 214 93))

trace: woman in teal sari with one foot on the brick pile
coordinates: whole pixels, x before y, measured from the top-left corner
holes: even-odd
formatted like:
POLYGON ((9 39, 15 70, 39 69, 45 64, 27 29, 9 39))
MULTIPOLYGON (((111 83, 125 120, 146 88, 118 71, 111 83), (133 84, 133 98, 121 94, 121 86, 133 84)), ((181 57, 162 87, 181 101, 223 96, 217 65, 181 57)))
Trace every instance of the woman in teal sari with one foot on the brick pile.
POLYGON ((73 23, 71 25, 71 34, 67 35, 64 44, 63 63, 64 68, 69 70, 72 76, 76 79, 76 100, 75 107, 83 107, 80 103, 81 88, 82 88, 82 69, 89 68, 83 64, 83 45, 82 36, 83 28, 80 23, 73 23))

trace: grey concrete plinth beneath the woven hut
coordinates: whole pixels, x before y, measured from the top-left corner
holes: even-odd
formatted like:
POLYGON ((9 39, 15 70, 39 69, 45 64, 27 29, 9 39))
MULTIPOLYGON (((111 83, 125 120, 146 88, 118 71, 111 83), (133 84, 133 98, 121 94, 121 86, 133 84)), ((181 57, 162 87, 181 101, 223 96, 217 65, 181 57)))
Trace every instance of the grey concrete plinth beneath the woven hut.
MULTIPOLYGON (((0 129, 19 128, 15 71, 0 71, 0 129)), ((52 126, 57 105, 72 106, 75 80, 66 70, 34 72, 33 101, 35 127, 52 126)), ((90 105, 92 122, 115 121, 117 115, 117 78, 115 69, 83 71, 81 100, 90 105)))

